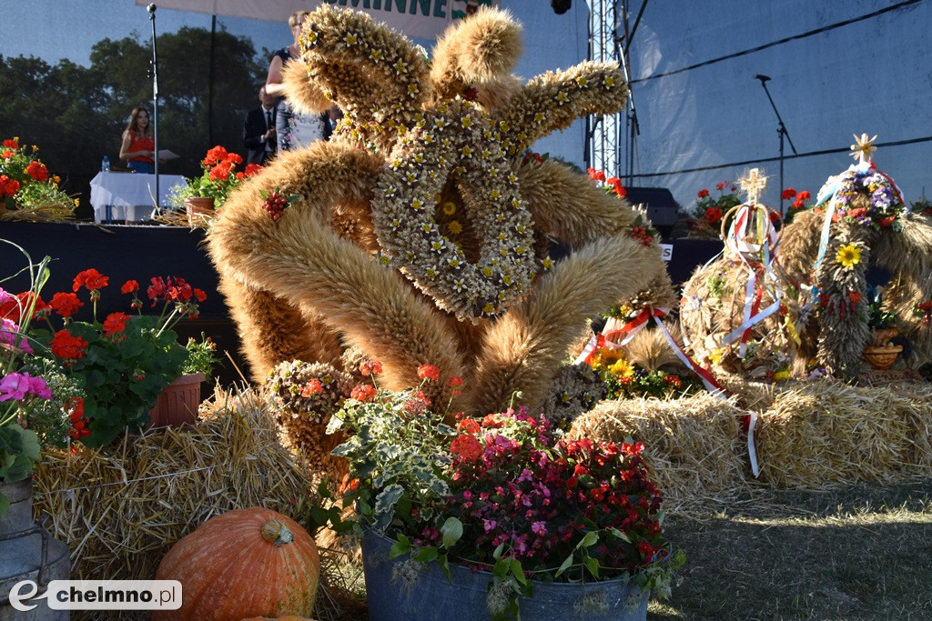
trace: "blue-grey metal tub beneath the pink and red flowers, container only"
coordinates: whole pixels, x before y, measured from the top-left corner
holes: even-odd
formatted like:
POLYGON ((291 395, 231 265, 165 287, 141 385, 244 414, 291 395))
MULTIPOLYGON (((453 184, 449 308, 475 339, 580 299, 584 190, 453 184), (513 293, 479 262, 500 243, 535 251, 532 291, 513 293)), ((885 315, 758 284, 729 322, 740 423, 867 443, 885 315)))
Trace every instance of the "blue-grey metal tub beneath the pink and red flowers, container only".
MULTIPOLYGON (((492 618, 486 604, 492 574, 451 564, 447 581, 436 562, 424 568, 409 560, 408 555, 389 560, 390 549, 390 540, 377 533, 365 533, 363 572, 370 621, 492 618)), ((533 597, 518 598, 522 621, 647 619, 649 593, 641 591, 633 581, 533 584, 533 597)))

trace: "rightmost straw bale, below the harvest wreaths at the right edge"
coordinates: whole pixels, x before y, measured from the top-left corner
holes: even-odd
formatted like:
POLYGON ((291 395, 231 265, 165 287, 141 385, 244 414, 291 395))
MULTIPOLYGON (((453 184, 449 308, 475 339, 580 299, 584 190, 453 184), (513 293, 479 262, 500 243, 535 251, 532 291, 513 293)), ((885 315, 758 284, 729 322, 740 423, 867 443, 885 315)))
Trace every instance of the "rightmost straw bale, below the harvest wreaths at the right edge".
POLYGON ((925 385, 906 392, 825 380, 778 388, 758 429, 760 479, 824 488, 927 476, 930 398, 925 385))

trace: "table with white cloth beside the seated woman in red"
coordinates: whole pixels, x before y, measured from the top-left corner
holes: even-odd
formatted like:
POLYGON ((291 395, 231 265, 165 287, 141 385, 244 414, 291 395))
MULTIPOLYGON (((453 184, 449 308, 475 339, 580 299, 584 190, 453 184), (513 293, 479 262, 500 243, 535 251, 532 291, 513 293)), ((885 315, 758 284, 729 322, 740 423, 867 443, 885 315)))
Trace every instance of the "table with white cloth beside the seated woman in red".
MULTIPOLYGON (((158 175, 159 205, 165 205, 171 188, 185 185, 181 175, 158 175)), ((156 176, 138 172, 98 172, 90 181, 90 205, 95 223, 139 221, 155 207, 156 176)))

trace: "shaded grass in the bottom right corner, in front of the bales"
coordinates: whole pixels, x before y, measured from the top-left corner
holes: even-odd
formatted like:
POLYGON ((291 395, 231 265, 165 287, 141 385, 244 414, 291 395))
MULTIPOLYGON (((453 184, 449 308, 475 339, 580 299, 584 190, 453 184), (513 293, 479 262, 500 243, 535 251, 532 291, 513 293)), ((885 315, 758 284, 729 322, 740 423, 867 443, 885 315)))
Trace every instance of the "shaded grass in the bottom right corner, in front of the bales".
POLYGON ((932 619, 932 480, 754 493, 665 527, 687 561, 650 619, 932 619))

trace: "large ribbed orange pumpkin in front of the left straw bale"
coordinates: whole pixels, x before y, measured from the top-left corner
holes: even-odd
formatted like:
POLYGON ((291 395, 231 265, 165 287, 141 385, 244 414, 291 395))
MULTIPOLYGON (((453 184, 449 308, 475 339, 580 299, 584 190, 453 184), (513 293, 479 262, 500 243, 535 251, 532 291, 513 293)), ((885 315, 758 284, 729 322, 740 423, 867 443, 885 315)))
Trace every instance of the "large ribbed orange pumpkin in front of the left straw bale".
POLYGON ((181 582, 182 607, 156 611, 152 619, 307 616, 320 575, 317 545, 295 520, 260 507, 235 509, 207 520, 171 547, 156 579, 181 582))

